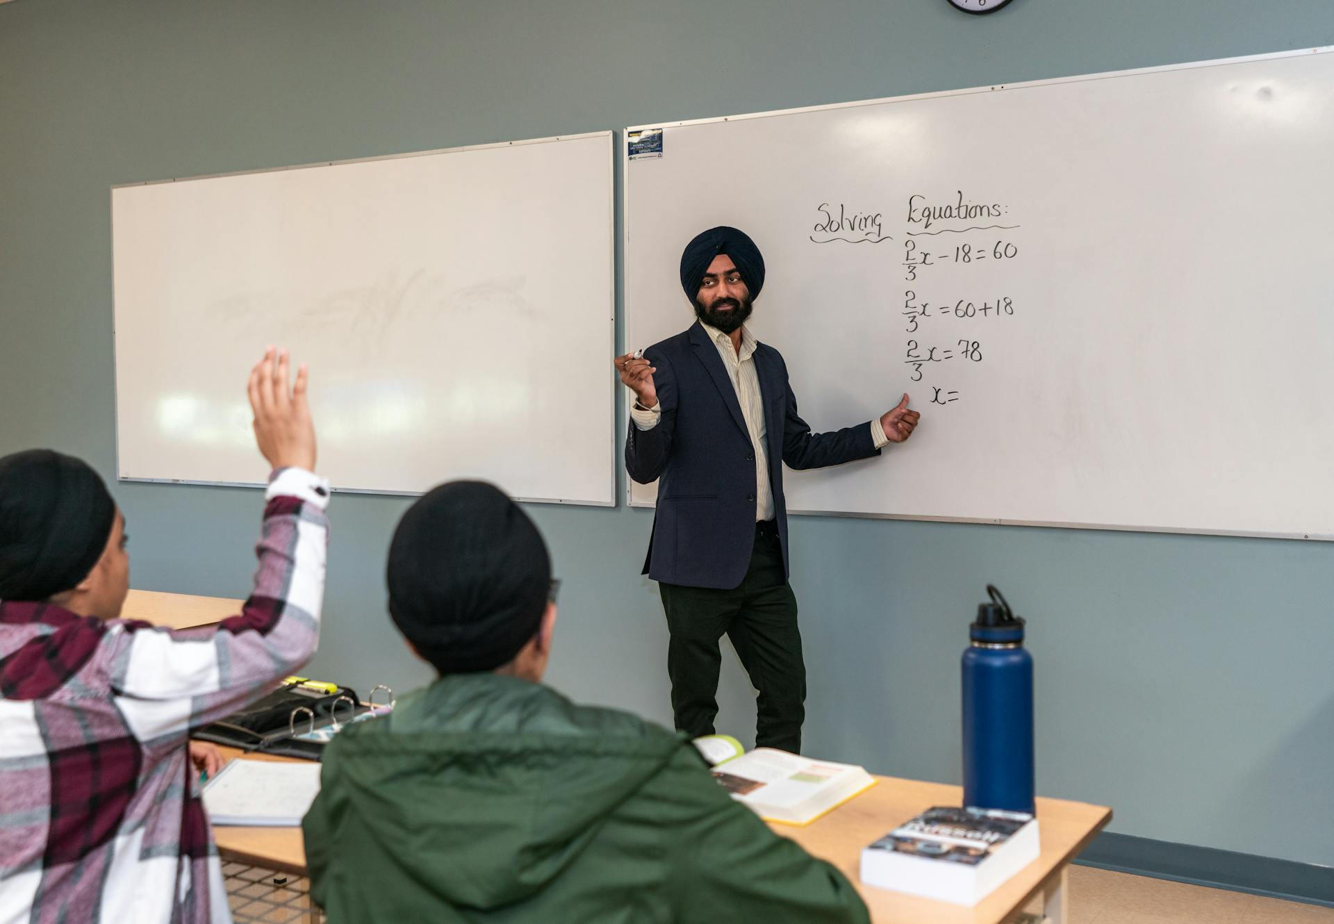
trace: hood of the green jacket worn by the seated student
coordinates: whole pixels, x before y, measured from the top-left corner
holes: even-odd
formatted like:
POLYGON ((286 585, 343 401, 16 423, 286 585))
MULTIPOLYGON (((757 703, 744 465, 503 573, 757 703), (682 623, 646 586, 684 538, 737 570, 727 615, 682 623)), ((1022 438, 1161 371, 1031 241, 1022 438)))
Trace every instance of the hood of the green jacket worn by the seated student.
POLYGON ((454 675, 342 732, 320 800, 332 849, 355 844, 392 860, 399 887, 490 909, 559 876, 680 747, 540 684, 454 675))

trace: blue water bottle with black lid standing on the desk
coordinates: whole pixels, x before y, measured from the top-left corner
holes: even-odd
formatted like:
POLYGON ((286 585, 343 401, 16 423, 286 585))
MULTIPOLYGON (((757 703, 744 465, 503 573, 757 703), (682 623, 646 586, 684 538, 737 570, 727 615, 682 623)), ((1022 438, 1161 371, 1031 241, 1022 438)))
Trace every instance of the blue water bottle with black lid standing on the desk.
POLYGON ((963 652, 963 804, 1033 812, 1033 656, 991 584, 963 652))

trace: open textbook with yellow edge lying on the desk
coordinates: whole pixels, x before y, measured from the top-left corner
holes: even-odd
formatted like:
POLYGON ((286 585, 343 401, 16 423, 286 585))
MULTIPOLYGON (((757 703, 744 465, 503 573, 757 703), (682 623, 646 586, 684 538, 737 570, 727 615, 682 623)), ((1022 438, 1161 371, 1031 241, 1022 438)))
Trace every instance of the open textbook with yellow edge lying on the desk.
POLYGON ((766 821, 807 824, 875 785, 875 777, 860 767, 774 748, 743 753, 740 743, 726 735, 695 739, 695 747, 714 765, 714 779, 732 799, 766 821))

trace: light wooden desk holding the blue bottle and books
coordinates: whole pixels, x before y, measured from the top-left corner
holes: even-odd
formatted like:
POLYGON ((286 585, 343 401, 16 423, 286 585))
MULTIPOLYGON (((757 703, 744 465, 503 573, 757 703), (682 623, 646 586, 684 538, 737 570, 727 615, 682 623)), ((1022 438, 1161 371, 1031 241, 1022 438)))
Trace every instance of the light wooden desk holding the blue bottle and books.
MULTIPOLYGON (((240 753, 235 748, 221 748, 221 751, 228 759, 240 753)), ((289 760, 289 757, 261 755, 251 757, 289 760)), ((879 780, 876 785, 804 828, 787 824, 770 825, 778 833, 804 847, 812 856, 838 867, 862 893, 875 924, 1000 924, 1039 895, 1043 897, 1049 921, 1069 923, 1066 868, 1111 820, 1110 808, 1059 799, 1039 799, 1042 855, 975 908, 962 908, 860 884, 858 867, 863 847, 932 805, 958 805, 963 800, 962 787, 891 776, 876 779, 879 780)), ((305 875, 305 844, 300 828, 215 827, 213 839, 225 860, 305 875)))

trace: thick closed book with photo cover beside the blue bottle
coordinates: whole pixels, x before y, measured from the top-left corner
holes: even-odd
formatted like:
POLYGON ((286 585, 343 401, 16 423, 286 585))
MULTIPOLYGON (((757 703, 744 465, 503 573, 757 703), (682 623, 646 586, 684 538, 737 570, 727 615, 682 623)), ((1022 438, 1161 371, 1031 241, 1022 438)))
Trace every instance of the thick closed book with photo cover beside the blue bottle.
POLYGON ((1031 815, 936 807, 863 848, 862 881, 971 907, 1039 853, 1031 815))

